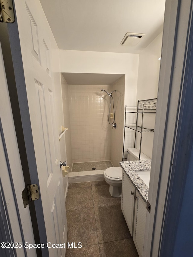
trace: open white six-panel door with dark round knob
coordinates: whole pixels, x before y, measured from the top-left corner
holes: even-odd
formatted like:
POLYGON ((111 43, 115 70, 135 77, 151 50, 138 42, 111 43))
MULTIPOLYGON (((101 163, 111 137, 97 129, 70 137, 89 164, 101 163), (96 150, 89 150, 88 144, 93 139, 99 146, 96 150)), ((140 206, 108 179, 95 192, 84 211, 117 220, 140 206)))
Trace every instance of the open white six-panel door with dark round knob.
MULTIPOLYGON (((63 124, 59 117, 59 49, 39 1, 15 1, 15 11, 47 240, 62 244, 66 241, 67 226, 59 167, 59 125, 63 124)), ((65 256, 65 248, 51 247, 49 255, 65 256)))

